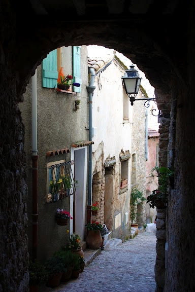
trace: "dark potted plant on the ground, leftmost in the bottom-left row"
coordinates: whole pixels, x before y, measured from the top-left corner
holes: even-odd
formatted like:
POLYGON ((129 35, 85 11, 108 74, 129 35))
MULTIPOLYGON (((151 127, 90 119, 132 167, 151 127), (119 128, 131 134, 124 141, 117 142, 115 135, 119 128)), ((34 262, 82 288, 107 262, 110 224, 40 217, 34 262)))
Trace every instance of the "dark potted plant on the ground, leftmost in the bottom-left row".
POLYGON ((46 284, 49 274, 45 267, 38 261, 29 262, 29 288, 30 292, 37 292, 39 286, 46 284))

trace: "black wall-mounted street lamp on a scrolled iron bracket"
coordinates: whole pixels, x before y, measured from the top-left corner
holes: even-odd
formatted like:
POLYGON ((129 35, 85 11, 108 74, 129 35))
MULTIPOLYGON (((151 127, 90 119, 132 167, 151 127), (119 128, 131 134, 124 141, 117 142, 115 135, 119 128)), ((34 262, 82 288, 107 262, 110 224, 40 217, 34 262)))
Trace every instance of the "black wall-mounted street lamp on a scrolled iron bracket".
MULTIPOLYGON (((140 88, 140 83, 141 83, 142 78, 139 76, 138 70, 136 70, 134 67, 135 67, 135 65, 132 64, 128 70, 125 70, 125 74, 122 77, 126 94, 128 95, 129 100, 131 101, 131 105, 134 105, 134 101, 136 101, 136 100, 146 100, 144 103, 144 106, 149 107, 150 104, 147 102, 149 100, 156 101, 156 99, 154 97, 152 97, 152 98, 136 98, 138 91, 139 91, 139 88, 140 88), (146 103, 147 103, 147 105, 146 105, 146 103)), ((153 113, 152 113, 152 115, 155 116, 153 113)), ((159 113, 158 113, 158 115, 159 115, 159 113)), ((157 116, 155 116, 155 117, 157 117, 157 116)))

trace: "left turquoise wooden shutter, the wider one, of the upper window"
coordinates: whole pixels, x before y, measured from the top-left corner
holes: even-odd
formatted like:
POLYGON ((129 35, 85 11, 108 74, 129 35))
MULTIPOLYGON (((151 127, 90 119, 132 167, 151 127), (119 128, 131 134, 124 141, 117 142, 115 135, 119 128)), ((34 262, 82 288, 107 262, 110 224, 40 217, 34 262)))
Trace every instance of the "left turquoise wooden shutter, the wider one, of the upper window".
POLYGON ((57 49, 55 49, 42 61, 42 86, 57 88, 57 79, 57 49))

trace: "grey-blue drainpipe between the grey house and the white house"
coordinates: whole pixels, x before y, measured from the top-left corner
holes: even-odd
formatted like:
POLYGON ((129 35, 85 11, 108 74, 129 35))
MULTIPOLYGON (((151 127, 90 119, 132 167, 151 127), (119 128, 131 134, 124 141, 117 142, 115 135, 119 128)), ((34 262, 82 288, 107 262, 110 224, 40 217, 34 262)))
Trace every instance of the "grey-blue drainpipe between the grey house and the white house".
MULTIPOLYGON (((95 70, 93 68, 89 69, 91 73, 90 85, 87 86, 87 92, 89 95, 89 141, 92 140, 92 97, 93 91, 95 90, 94 79, 95 70)), ((89 145, 89 162, 88 162, 88 206, 87 206, 87 223, 91 222, 91 195, 92 193, 92 145, 89 145)))

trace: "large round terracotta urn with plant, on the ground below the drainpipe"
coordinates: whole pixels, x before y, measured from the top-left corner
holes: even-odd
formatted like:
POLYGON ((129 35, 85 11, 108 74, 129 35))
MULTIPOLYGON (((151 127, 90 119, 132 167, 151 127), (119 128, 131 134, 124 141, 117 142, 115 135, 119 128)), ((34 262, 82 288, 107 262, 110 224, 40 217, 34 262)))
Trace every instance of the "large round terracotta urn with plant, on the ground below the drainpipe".
POLYGON ((99 222, 91 221, 86 225, 88 234, 86 237, 86 243, 90 249, 98 249, 102 244, 102 236, 100 231, 103 230, 102 224, 99 222))

